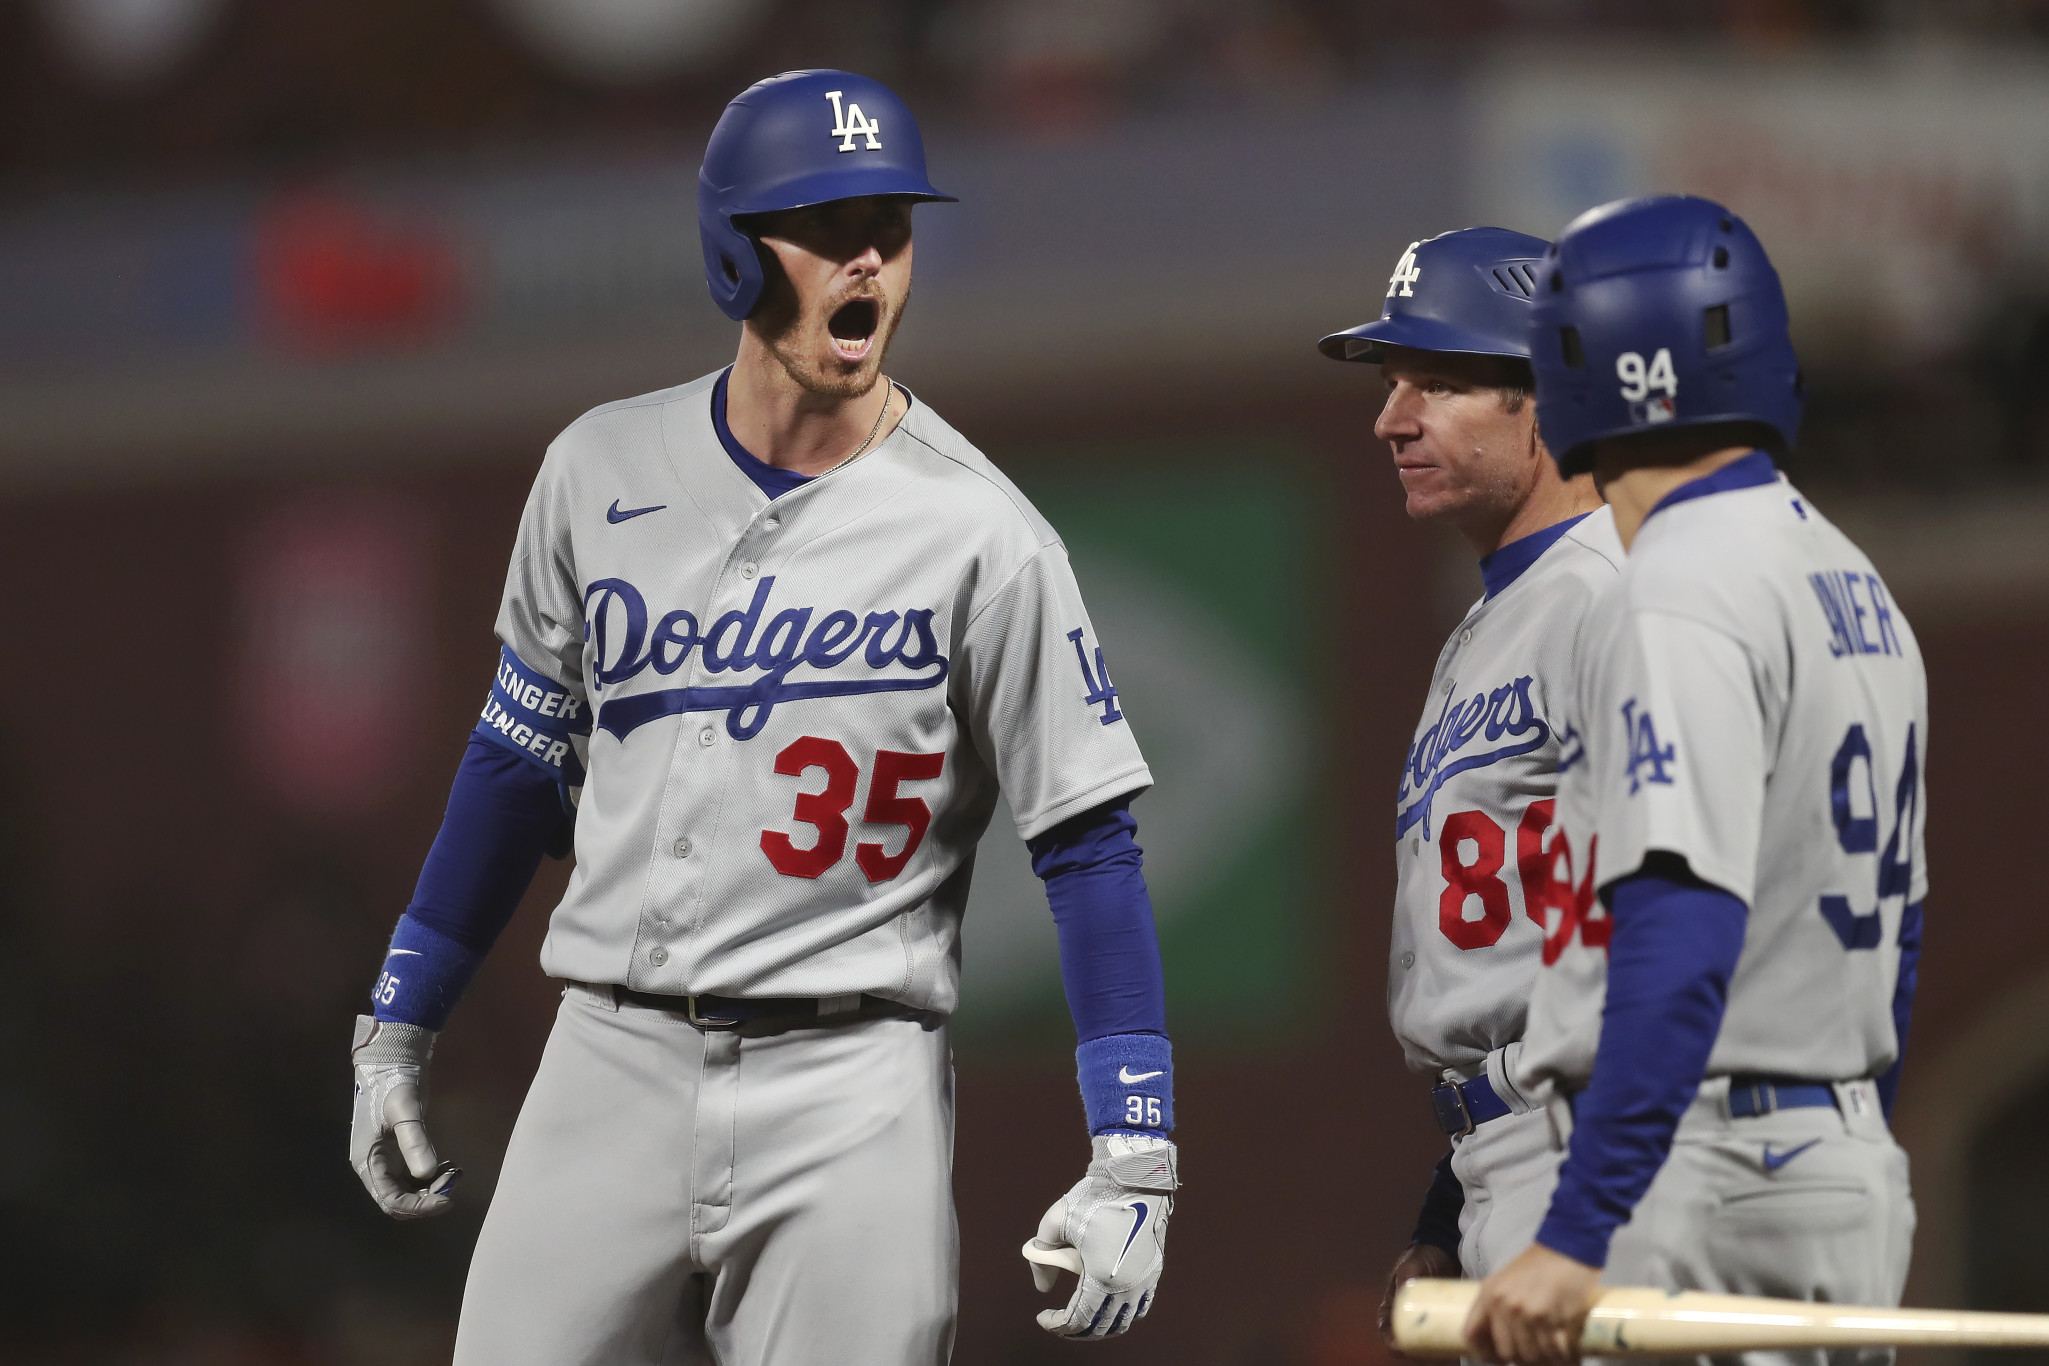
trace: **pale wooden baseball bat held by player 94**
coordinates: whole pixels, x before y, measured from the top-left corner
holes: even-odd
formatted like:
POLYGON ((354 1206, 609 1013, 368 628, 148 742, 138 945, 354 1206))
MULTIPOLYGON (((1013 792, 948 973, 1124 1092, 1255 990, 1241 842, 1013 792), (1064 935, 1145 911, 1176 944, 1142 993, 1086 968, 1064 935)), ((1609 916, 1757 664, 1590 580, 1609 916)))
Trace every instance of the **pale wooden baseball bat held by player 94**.
MULTIPOLYGON (((1461 1356, 1473 1280, 1412 1280, 1395 1294, 1395 1343, 1410 1356, 1461 1356)), ((1602 1290, 1586 1315, 1586 1356, 1721 1356, 1772 1348, 2043 1348, 2049 1315, 1865 1309, 1695 1290, 1602 1290)))

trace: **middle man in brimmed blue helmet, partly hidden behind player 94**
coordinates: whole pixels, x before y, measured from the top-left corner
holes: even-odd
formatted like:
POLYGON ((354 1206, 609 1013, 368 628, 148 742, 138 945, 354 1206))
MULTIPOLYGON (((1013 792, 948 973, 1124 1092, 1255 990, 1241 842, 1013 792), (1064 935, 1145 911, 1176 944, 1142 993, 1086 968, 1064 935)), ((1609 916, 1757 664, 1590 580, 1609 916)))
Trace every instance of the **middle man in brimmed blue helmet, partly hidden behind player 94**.
POLYGON ((1623 547, 1592 479, 1561 477, 1537 436, 1529 313, 1547 248, 1502 227, 1416 242, 1381 317, 1322 342, 1379 362, 1373 434, 1408 514, 1457 528, 1486 586, 1436 657, 1395 797, 1387 1010, 1410 1067, 1438 1079, 1453 1149, 1389 1298, 1412 1276, 1479 1278, 1522 1251, 1555 1165, 1543 1110, 1510 1083, 1543 944, 1529 879, 1551 825, 1557 698, 1623 547))

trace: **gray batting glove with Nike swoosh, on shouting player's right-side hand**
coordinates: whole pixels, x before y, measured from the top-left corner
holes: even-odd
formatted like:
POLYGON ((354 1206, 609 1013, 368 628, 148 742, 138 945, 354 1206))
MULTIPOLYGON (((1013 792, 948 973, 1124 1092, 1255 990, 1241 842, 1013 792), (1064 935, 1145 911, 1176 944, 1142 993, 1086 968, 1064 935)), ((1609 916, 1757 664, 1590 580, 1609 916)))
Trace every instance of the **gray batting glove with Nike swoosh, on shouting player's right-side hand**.
POLYGON ((1080 1264, 1082 1284, 1068 1307, 1039 1315, 1039 1327, 1055 1337, 1117 1337, 1129 1329, 1152 1309, 1166 1262, 1166 1216, 1180 1184, 1174 1145, 1104 1135, 1094 1139, 1094 1153, 1088 1176, 1053 1202, 1039 1237, 1024 1247, 1041 1294, 1053 1288, 1059 1266, 1080 1264))

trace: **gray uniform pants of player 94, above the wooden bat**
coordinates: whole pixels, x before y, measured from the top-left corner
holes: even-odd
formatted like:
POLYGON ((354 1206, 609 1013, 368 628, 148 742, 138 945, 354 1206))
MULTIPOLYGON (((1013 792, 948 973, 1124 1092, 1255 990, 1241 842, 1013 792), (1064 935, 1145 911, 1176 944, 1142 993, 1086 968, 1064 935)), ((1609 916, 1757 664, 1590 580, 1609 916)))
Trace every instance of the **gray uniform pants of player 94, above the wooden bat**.
MULTIPOLYGON (((1561 1110, 1553 1102, 1553 1116, 1561 1110)), ((1893 1143, 1871 1081, 1838 1081, 1834 1108, 1731 1118, 1727 1077, 1709 1077, 1680 1118, 1672 1155, 1615 1235, 1600 1280, 1897 1305, 1912 1247, 1908 1155, 1893 1143)), ((1881 1366, 1891 1350, 1746 1352, 1697 1360, 1711 1366, 1881 1366)))

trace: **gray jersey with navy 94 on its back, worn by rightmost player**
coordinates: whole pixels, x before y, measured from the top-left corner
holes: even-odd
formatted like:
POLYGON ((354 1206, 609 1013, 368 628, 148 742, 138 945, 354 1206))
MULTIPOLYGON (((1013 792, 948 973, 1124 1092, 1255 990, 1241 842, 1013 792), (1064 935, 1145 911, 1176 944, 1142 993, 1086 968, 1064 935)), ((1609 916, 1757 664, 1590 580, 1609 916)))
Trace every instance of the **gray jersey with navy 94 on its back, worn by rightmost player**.
POLYGON ((1529 1083, 1586 1085, 1606 985, 1596 891, 1651 850, 1750 907, 1711 1077, 1875 1077, 1897 1055, 1899 922, 1928 889, 1920 647, 1865 553, 1762 455, 1746 467, 1748 483, 1729 467, 1656 510, 1594 604, 1529 1083))

